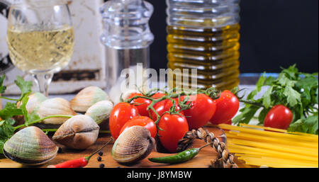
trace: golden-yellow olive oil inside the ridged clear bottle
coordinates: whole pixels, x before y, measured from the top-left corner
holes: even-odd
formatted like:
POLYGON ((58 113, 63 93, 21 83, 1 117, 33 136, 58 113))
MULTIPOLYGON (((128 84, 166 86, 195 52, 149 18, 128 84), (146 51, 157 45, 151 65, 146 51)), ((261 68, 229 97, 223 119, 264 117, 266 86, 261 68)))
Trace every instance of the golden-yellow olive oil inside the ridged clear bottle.
POLYGON ((168 67, 197 69, 198 88, 233 89, 239 84, 239 30, 238 23, 220 28, 169 25, 168 67))

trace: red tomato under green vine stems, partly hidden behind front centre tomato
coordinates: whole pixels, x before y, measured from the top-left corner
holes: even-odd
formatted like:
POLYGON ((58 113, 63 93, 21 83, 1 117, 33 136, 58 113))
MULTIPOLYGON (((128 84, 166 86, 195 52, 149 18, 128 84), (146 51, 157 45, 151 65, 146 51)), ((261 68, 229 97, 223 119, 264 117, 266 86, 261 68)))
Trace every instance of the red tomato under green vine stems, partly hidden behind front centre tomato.
MULTIPOLYGON (((175 101, 175 107, 177 110, 180 109, 179 107, 179 101, 178 98, 174 99, 175 101)), ((160 101, 159 103, 155 103, 154 105, 154 109, 156 110, 156 112, 162 116, 166 111, 169 111, 173 106, 173 102, 169 99, 165 99, 164 101, 160 101)), ((157 120, 157 115, 155 114, 155 112, 153 110, 150 110, 151 113, 151 118, 152 120, 157 120)))

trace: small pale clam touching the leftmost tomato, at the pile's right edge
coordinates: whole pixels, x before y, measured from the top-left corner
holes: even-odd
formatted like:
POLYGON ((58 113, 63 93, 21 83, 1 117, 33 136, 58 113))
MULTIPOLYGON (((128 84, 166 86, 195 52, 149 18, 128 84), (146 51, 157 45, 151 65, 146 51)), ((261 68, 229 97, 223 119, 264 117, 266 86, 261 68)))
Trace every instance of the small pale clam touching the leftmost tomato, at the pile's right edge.
POLYGON ((86 110, 85 115, 89 115, 99 125, 108 120, 112 109, 111 101, 99 101, 86 110))

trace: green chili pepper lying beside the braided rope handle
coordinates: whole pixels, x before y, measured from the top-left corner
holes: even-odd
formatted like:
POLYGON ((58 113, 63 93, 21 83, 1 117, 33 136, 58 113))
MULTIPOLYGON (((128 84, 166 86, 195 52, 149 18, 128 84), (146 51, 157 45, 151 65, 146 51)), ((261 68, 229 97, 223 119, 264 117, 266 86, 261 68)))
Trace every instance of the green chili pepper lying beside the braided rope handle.
MULTIPOLYGON (((206 144, 203 147, 207 147, 209 144, 206 144)), ((203 147, 184 150, 183 152, 179 152, 179 154, 172 155, 172 156, 149 158, 149 160, 152 162, 164 163, 164 164, 178 164, 185 161, 189 161, 193 159, 194 157, 196 157, 196 155, 201 151, 201 149, 203 149, 203 147)))

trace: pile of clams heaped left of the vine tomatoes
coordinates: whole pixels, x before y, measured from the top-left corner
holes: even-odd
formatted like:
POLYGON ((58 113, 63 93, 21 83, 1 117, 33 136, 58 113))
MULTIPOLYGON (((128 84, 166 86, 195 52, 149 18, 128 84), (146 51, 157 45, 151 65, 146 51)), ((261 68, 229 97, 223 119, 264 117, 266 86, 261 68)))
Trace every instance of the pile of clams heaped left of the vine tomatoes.
POLYGON ((46 98, 33 93, 26 104, 28 113, 40 118, 50 115, 69 115, 72 118, 49 118, 38 125, 16 132, 4 144, 4 155, 21 164, 38 165, 55 158, 58 147, 52 140, 72 149, 86 149, 94 144, 100 126, 108 125, 113 102, 108 94, 96 86, 80 91, 71 101, 64 98, 46 98), (40 128, 58 128, 50 140, 40 128))

